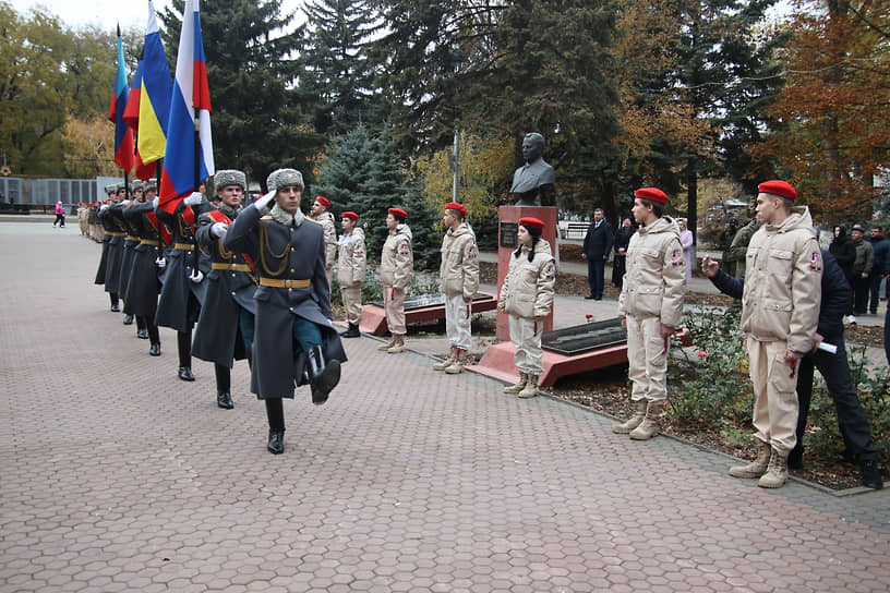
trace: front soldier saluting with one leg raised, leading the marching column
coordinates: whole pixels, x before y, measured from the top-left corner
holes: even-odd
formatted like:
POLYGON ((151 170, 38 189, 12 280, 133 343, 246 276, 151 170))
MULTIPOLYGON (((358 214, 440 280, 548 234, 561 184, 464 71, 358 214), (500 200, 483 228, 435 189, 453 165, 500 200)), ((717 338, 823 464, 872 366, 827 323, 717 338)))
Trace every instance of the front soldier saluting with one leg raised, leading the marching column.
POLYGON ((303 176, 278 169, 269 174, 267 186, 269 193, 238 215, 222 243, 256 263, 251 391, 265 401, 267 448, 278 455, 285 451, 281 399, 292 399, 294 384, 309 379, 312 402, 327 401, 340 380, 346 352, 330 322, 324 231, 300 211, 303 176), (273 199, 272 211, 263 216, 273 199))

